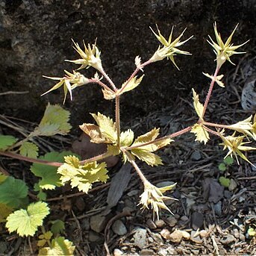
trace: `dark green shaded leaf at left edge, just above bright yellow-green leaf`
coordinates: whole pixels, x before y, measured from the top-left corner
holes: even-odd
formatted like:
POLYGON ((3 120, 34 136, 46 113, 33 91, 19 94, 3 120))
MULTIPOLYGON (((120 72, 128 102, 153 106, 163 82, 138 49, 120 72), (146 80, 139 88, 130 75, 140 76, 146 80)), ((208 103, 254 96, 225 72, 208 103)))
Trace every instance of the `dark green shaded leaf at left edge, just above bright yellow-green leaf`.
POLYGON ((28 186, 22 180, 9 176, 0 184, 0 203, 19 208, 25 203, 27 196, 28 186))

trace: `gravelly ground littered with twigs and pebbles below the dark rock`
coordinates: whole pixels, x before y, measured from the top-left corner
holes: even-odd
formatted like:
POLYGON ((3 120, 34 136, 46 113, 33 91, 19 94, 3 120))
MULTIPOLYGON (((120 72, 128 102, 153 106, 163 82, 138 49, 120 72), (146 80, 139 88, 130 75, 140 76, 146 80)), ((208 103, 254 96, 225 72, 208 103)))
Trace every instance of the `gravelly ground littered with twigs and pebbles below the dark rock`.
MULTIPOLYGON (((229 65, 226 87, 215 87, 207 120, 230 124, 252 114, 242 110, 240 95, 248 79, 246 65, 254 56, 247 54, 237 66, 229 65)), ((202 92, 200 99, 205 94, 202 92)), ((131 120, 123 128, 143 134, 159 127, 165 135, 196 122, 191 93, 187 98, 170 99, 168 105, 131 120)), ((28 131, 34 127, 33 123, 14 116, 1 115, 0 120, 3 134, 15 133, 15 125, 28 131)), ((49 145, 59 151, 69 149, 77 139, 70 135, 65 139, 43 140, 41 151, 49 149, 49 145)), ((185 134, 158 153, 163 166, 149 168, 140 163, 152 184, 177 182, 174 192, 166 195, 178 199, 167 203, 174 215, 163 210, 160 219, 153 221, 151 210, 142 212, 137 206, 143 192, 140 178, 131 166, 119 160, 110 168, 107 184, 95 184, 88 195, 68 187, 49 192, 51 218, 65 222, 66 237, 76 246, 75 255, 255 255, 256 237, 249 237, 247 231, 256 221, 256 169, 241 160, 240 165, 234 162, 221 173, 218 166, 225 152, 219 143, 216 137, 211 137, 204 146, 194 142, 193 134, 185 134), (230 178, 232 185, 222 187, 220 175, 230 178)), ((256 163, 254 153, 247 156, 256 163)), ((27 163, 1 157, 1 167, 33 187, 35 178, 28 172, 27 163)), ((0 234, 0 255, 36 253, 35 237, 22 239, 8 234, 2 224, 0 234)))

